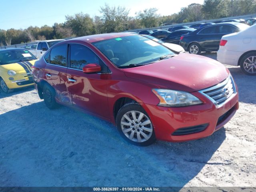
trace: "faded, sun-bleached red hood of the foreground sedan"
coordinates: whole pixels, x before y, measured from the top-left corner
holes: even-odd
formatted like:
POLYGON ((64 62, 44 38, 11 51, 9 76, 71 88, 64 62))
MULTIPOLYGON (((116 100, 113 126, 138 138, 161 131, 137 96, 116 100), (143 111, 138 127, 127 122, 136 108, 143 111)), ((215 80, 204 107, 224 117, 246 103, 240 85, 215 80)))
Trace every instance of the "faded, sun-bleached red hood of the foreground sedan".
POLYGON ((158 88, 187 92, 214 86, 225 80, 230 73, 216 60, 187 53, 123 70, 127 77, 153 84, 158 88))

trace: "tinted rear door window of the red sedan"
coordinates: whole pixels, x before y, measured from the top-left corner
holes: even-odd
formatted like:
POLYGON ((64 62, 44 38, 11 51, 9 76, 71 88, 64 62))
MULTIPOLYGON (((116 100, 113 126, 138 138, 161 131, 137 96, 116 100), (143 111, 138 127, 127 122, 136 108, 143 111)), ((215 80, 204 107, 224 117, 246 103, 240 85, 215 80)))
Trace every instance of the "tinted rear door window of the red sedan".
POLYGON ((50 53, 50 64, 67 66, 67 45, 52 48, 50 53))

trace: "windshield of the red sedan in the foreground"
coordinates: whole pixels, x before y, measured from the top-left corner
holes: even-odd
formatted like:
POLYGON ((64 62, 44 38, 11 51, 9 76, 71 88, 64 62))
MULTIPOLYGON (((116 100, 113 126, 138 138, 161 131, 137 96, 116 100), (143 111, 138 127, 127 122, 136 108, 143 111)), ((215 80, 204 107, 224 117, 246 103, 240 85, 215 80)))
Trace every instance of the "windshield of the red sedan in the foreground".
POLYGON ((92 43, 117 67, 149 64, 174 52, 140 35, 113 38, 92 43))

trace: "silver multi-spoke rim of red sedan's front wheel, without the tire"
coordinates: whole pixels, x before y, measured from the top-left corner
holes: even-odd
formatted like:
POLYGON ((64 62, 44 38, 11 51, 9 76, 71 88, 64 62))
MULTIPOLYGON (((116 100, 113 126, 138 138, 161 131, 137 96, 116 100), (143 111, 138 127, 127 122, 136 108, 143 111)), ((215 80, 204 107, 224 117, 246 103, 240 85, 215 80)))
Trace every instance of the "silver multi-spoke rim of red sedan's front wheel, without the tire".
POLYGON ((140 111, 128 111, 121 119, 124 135, 134 142, 145 142, 153 133, 152 122, 148 116, 140 111))

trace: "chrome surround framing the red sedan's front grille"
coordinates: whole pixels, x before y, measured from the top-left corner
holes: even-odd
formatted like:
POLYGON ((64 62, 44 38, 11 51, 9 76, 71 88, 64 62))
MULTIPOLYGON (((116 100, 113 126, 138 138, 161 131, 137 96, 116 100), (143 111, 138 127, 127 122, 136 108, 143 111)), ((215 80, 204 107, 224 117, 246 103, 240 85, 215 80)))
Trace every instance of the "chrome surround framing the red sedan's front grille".
POLYGON ((214 103, 214 105, 217 107, 217 108, 220 108, 222 107, 224 104, 226 104, 228 101, 230 101, 232 98, 234 98, 234 96, 237 94, 237 90, 236 90, 236 86, 235 86, 235 83, 234 83, 234 79, 233 77, 231 76, 231 74, 228 76, 228 78, 226 78, 224 81, 220 82, 219 84, 215 85, 215 86, 212 86, 210 88, 206 88, 206 89, 203 89, 203 90, 200 90, 198 91, 200 92, 202 95, 204 95, 206 98, 208 98, 210 101, 212 101, 214 103), (232 83, 232 86, 233 86, 233 93, 232 95, 227 98, 227 100, 225 100, 225 102, 223 102, 222 104, 217 104, 217 102, 211 98, 210 96, 208 96, 207 94, 205 94, 204 92, 207 92, 207 91, 211 91, 211 90, 215 90, 217 88, 220 88, 222 86, 225 86, 228 81, 231 79, 231 83, 232 83))

